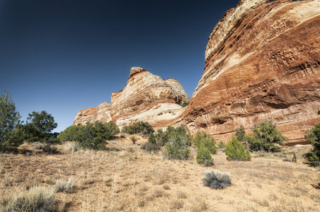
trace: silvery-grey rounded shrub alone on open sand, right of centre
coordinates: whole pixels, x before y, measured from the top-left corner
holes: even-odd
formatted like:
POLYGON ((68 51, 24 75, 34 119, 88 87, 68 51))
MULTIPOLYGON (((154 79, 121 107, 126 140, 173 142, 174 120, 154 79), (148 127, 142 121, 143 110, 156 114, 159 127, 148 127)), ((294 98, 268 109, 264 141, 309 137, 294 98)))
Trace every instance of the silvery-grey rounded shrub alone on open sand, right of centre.
POLYGON ((202 176, 202 182, 205 187, 225 189, 231 186, 231 174, 220 170, 207 170, 202 176))

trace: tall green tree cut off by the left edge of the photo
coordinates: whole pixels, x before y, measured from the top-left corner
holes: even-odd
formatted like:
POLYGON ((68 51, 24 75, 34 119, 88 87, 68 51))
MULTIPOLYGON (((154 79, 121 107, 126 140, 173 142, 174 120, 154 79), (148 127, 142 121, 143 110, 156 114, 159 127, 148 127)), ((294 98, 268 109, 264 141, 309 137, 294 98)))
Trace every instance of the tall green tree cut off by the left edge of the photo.
POLYGON ((0 98, 0 151, 8 146, 19 146, 21 141, 8 141, 20 124, 21 116, 16 110, 16 105, 11 100, 8 90, 1 93, 0 98))

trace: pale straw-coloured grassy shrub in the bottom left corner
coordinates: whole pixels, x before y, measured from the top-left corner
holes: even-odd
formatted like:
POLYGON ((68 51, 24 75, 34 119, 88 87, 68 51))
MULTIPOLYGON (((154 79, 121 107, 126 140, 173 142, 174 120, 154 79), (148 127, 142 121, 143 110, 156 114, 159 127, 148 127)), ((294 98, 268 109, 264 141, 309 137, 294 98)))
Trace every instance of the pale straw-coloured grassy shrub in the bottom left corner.
POLYGON ((54 211, 57 190, 47 187, 31 187, 21 196, 10 199, 3 211, 54 211))

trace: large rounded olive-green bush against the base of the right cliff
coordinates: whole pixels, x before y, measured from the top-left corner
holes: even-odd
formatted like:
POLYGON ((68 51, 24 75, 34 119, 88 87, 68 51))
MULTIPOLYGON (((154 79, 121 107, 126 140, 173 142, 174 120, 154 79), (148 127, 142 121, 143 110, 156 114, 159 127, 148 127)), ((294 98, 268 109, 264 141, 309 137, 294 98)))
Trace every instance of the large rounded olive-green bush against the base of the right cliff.
POLYGON ((277 129, 277 124, 272 121, 264 121, 253 126, 253 134, 244 136, 252 151, 277 151, 279 147, 275 143, 282 144, 286 138, 277 129))

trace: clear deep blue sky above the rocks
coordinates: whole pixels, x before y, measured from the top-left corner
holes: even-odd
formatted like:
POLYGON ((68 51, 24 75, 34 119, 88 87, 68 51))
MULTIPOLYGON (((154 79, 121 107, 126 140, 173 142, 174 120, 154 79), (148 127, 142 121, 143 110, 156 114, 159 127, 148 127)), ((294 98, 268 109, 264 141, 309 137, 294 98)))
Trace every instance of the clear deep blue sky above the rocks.
POLYGON ((62 131, 110 102, 132 66, 176 78, 191 97, 207 39, 238 0, 0 0, 0 88, 22 120, 47 111, 62 131))

